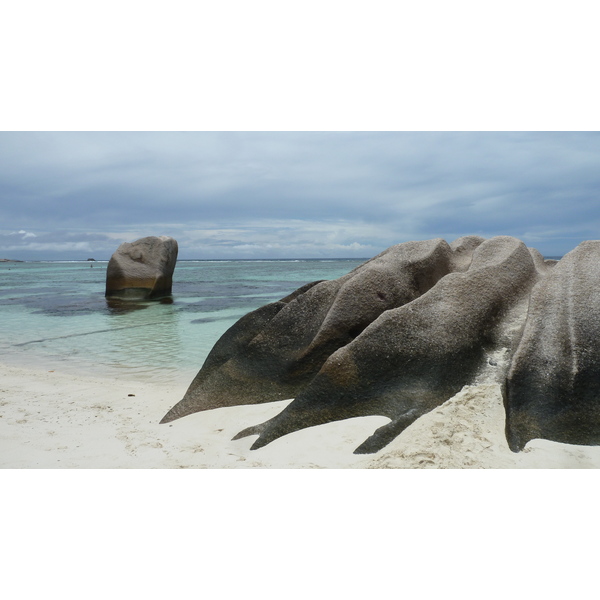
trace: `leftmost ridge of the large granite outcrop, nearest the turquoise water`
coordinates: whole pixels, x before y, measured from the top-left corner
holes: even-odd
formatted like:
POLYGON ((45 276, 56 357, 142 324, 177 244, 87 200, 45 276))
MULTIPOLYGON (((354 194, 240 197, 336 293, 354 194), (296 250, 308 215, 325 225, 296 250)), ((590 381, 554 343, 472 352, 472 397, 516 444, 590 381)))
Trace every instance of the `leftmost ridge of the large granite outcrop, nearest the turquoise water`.
POLYGON ((382 313, 412 302, 457 264, 466 268, 483 238, 463 241, 455 249, 442 239, 392 246, 339 279, 308 284, 246 315, 217 342, 161 423, 294 397, 333 352, 382 313))

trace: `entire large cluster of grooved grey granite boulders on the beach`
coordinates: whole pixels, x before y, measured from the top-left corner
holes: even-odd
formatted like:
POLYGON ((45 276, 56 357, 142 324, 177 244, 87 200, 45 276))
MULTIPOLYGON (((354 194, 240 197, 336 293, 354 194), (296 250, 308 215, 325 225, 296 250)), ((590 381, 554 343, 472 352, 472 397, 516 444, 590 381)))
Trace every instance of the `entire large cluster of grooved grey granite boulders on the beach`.
POLYGON ((558 263, 507 236, 398 244, 240 319, 161 423, 294 398, 236 438, 258 435, 260 448, 305 427, 383 415, 390 423, 356 449, 376 452, 504 353, 497 377, 510 367, 513 450, 533 437, 600 444, 599 275, 600 242, 558 263))

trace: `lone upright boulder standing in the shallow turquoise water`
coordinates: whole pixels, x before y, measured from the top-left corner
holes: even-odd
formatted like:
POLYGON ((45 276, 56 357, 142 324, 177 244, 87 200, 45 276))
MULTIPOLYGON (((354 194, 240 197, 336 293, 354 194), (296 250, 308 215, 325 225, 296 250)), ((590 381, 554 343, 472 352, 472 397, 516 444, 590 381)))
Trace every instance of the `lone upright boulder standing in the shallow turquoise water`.
POLYGON ((164 235, 121 244, 108 262, 106 296, 150 300, 170 295, 177 250, 177 241, 164 235))

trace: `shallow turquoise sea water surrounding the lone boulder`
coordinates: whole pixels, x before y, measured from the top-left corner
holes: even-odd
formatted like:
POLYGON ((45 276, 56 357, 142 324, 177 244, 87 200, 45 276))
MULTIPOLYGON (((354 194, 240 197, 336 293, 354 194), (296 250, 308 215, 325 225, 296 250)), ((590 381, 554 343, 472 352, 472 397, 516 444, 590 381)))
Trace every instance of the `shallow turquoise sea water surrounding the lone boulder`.
POLYGON ((169 302, 104 298, 106 262, 0 263, 0 362, 188 383, 244 314, 365 259, 179 261, 169 302))

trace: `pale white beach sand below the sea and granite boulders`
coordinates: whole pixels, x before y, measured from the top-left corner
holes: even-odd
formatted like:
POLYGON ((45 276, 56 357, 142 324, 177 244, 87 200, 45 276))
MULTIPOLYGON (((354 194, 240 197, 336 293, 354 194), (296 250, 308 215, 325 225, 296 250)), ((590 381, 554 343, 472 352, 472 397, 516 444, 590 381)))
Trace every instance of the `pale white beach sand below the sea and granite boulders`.
POLYGON ((597 468, 600 447, 546 440, 508 449, 497 383, 483 379, 418 419, 373 455, 353 450, 385 417, 311 427, 250 451, 232 441, 289 401, 221 408, 158 422, 185 392, 157 386, 0 366, 2 468, 597 468), (133 394, 133 395, 130 395, 133 394))

